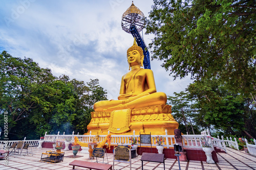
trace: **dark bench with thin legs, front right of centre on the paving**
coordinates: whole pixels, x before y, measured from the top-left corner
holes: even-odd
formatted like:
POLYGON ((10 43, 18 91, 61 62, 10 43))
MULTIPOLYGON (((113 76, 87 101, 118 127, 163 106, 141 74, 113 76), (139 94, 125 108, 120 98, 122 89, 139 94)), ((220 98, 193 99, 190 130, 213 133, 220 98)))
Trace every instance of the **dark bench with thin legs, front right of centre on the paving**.
POLYGON ((163 169, 165 169, 164 154, 155 154, 155 153, 145 153, 145 152, 143 152, 142 155, 141 155, 140 160, 141 160, 141 163, 142 163, 142 170, 143 170, 143 161, 163 163, 163 169))

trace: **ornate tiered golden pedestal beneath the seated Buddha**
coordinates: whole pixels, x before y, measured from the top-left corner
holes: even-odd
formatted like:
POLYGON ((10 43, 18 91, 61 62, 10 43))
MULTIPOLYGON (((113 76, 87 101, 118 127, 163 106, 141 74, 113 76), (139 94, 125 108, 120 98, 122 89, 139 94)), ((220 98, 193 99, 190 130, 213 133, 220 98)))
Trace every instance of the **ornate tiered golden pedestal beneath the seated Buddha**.
MULTIPOLYGON (((110 129, 111 134, 120 134, 120 135, 133 135, 133 131, 135 130, 135 134, 152 134, 152 135, 165 135, 165 129, 167 130, 168 135, 174 135, 174 130, 179 127, 179 124, 172 116, 172 106, 169 105, 156 105, 144 108, 137 109, 124 109, 123 112, 127 112, 125 114, 125 121, 122 117, 120 117, 119 123, 113 123, 112 121, 117 121, 116 115, 114 117, 114 112, 91 112, 91 122, 87 126, 88 133, 92 131, 92 135, 108 135, 108 131, 110 129), (113 118, 114 117, 114 118, 113 118), (119 133, 119 130, 113 130, 115 128, 111 127, 117 125, 123 125, 129 129, 126 129, 126 132, 119 133)), ((115 114, 118 114, 115 113, 115 114)), ((121 128, 121 127, 120 127, 121 128)), ((85 134, 85 135, 86 135, 85 134)))

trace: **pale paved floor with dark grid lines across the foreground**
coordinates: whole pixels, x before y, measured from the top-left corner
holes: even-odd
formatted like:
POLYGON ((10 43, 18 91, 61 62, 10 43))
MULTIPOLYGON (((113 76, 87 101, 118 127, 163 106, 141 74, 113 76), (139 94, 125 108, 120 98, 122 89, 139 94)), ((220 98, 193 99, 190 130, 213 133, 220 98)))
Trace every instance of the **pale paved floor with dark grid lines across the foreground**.
MULTIPOLYGON (((89 154, 82 154, 78 152, 77 155, 83 156, 79 158, 68 158, 64 157, 63 162, 51 163, 40 161, 41 153, 49 151, 49 149, 33 148, 33 156, 18 156, 11 155, 8 159, 8 166, 4 165, 5 160, 0 160, 0 170, 11 170, 11 169, 72 169, 69 165, 73 160, 84 160, 91 161, 88 159, 89 154)), ((65 156, 73 155, 72 151, 65 151, 65 156)), ((228 153, 217 153, 219 162, 215 164, 208 164, 203 161, 187 161, 181 162, 181 169, 256 169, 256 157, 246 154, 244 151, 236 151, 228 148, 228 153)), ((113 165, 113 154, 108 154, 109 164, 113 165)), ((96 161, 94 159, 93 161, 96 161)), ((98 159, 102 161, 102 159, 98 159)), ((106 157, 104 159, 106 162, 106 157)), ((154 162, 143 162, 143 169, 163 169, 162 163, 154 162)), ((76 166, 75 169, 86 170, 87 168, 81 168, 76 166)), ((130 169, 129 163, 118 163, 115 162, 115 169, 130 169)), ((132 169, 141 169, 140 156, 132 159, 132 169)), ((176 159, 165 159, 165 169, 179 169, 179 164, 176 159)))

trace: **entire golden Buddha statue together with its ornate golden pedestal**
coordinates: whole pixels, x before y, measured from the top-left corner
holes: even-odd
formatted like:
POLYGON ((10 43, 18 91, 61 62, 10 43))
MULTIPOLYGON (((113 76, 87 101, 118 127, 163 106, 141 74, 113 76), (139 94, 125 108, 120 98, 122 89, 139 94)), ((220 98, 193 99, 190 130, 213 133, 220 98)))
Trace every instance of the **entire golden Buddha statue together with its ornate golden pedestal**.
POLYGON ((129 72, 122 77, 118 100, 99 101, 94 104, 92 119, 87 126, 92 134, 174 134, 179 127, 166 105, 166 94, 156 91, 153 71, 143 69, 143 50, 134 44, 127 50, 129 72))

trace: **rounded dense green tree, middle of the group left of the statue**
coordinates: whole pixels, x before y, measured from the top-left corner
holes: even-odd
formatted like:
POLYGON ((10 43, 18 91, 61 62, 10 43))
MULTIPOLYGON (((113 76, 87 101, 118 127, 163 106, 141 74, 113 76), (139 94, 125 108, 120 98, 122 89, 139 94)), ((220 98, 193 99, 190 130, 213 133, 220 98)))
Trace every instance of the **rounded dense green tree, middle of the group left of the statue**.
POLYGON ((38 134, 45 132, 67 132, 73 129, 72 122, 76 114, 76 93, 68 76, 61 76, 37 89, 42 99, 31 111, 30 122, 36 125, 38 134))

